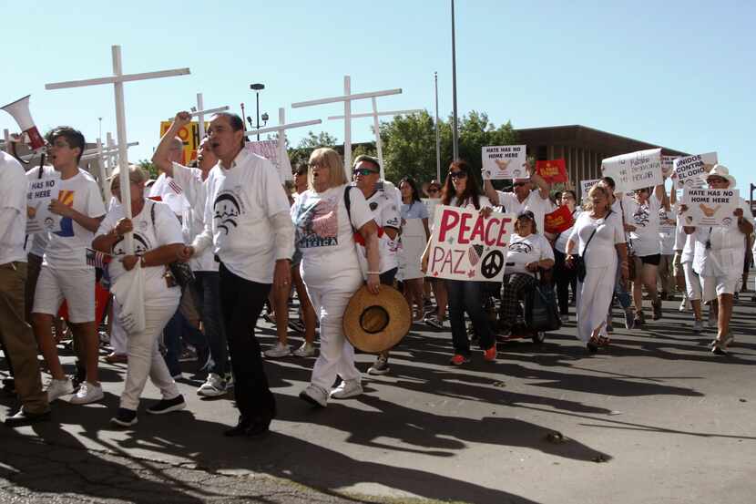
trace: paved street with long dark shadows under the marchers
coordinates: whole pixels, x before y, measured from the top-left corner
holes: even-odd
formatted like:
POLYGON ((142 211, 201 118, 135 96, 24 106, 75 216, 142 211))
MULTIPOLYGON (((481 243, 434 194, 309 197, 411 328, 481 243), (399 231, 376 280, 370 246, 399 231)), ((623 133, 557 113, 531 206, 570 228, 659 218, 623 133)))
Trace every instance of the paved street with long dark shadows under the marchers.
MULTIPOLYGON (((736 306, 728 356, 708 352, 713 333, 692 334, 678 304, 595 356, 567 324, 543 345, 499 345, 495 365, 476 352, 461 368, 447 365, 448 329, 415 325, 391 375, 324 410, 297 398, 313 359, 269 360, 279 417, 259 440, 222 437, 231 399, 201 400, 189 372, 186 410, 114 429, 126 367, 103 365, 104 403, 58 401, 53 422, 0 428, 0 501, 750 504, 756 303, 749 293, 736 306)), ((3 397, 0 415, 12 403, 3 397)))

